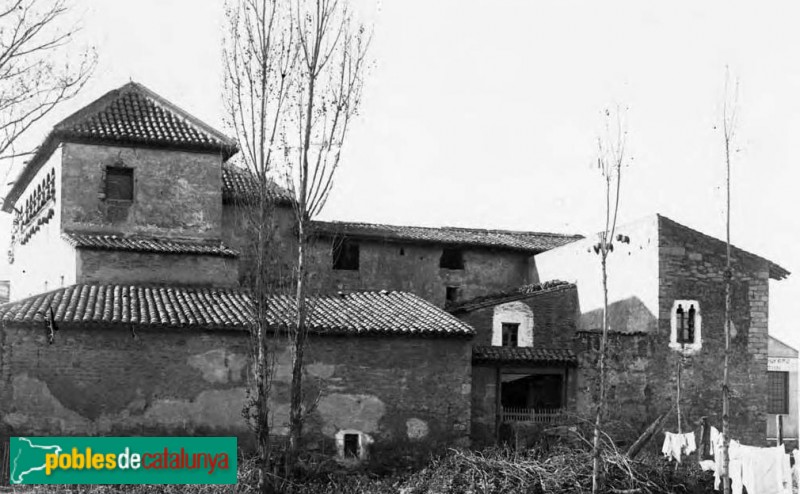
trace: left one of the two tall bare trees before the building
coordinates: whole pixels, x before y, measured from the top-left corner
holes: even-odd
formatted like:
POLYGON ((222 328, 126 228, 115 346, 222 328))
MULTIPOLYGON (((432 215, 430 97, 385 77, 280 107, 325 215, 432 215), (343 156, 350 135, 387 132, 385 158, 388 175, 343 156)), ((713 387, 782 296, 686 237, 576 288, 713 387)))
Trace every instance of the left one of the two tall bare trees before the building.
POLYGON ((275 489, 272 477, 269 395, 273 375, 268 319, 274 278, 270 273, 273 206, 272 177, 281 168, 286 115, 295 68, 294 36, 288 1, 229 0, 226 4, 225 106, 227 123, 242 149, 243 184, 237 208, 245 225, 246 285, 254 306, 251 326, 255 396, 245 414, 258 441, 259 491, 275 489))

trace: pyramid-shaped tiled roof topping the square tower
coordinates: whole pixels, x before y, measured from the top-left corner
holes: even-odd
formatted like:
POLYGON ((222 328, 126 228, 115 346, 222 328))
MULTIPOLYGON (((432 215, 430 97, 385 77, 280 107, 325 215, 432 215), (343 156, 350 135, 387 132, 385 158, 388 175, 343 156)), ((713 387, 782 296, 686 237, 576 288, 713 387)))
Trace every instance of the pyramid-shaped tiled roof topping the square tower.
POLYGON ((3 211, 11 212, 36 172, 65 141, 218 152, 223 161, 237 151, 233 139, 141 84, 130 82, 53 127, 6 195, 3 211))

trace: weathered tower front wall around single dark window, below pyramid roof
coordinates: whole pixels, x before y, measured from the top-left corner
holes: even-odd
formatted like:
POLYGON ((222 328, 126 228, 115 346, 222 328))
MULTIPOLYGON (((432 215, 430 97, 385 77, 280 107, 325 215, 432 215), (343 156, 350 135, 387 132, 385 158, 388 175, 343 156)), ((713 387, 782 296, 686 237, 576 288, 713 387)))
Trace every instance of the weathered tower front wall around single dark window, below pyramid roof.
POLYGON ((66 143, 64 230, 219 238, 222 159, 185 151, 66 143), (134 169, 134 200, 103 198, 107 166, 134 169))

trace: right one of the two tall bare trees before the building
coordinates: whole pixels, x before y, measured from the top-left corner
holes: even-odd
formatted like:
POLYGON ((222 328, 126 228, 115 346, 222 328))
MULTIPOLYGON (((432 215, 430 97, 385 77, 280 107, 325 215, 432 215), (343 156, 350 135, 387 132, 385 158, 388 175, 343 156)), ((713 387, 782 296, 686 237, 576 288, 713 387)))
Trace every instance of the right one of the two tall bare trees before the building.
POLYGON ((296 0, 299 67, 294 93, 296 134, 289 147, 289 181, 296 197, 297 319, 292 328, 289 465, 302 437, 303 353, 308 334, 306 249, 309 222, 322 210, 339 166, 348 127, 361 102, 370 36, 343 0, 296 0))

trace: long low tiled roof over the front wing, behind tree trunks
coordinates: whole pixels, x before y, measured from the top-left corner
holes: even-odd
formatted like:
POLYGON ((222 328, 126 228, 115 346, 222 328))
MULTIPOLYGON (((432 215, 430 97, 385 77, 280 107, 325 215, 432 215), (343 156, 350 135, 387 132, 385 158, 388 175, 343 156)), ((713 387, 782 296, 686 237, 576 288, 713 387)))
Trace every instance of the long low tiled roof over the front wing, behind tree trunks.
MULTIPOLYGON (((267 320, 286 327, 295 317, 293 298, 271 297, 267 320)), ((313 297, 310 331, 320 334, 472 336, 474 330, 405 292, 357 292, 313 297)), ((72 285, 0 305, 3 323, 35 324, 52 307, 60 325, 131 324, 154 328, 244 330, 252 321, 247 293, 234 289, 130 285, 72 285)))

